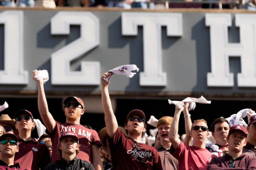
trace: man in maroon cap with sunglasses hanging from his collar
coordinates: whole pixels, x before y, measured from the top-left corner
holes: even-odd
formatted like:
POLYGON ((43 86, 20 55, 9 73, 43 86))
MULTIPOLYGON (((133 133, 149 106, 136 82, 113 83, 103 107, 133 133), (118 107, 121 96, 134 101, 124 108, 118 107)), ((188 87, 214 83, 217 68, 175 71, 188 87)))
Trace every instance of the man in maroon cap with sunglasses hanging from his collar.
POLYGON ((207 166, 207 170, 255 170, 256 158, 242 153, 246 145, 246 129, 241 125, 234 125, 230 128, 228 137, 229 152, 223 157, 213 158, 207 166))

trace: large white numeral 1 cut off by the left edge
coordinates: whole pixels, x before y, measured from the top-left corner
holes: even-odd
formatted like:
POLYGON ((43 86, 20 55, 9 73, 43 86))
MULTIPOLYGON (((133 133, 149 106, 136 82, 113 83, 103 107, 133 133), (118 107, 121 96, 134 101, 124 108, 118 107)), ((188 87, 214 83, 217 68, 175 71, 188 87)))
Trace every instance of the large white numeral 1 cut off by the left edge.
POLYGON ((4 24, 4 70, 0 70, 0 84, 28 84, 28 71, 23 69, 23 11, 0 14, 4 24))

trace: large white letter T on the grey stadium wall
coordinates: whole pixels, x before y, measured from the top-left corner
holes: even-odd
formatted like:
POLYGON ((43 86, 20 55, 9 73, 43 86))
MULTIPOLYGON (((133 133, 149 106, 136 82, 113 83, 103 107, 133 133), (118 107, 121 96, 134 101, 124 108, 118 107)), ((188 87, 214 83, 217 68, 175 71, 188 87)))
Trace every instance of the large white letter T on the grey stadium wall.
POLYGON ((166 86, 167 75, 162 72, 161 27, 167 27, 167 36, 182 36, 182 13, 122 13, 122 35, 138 35, 138 26, 143 26, 144 53, 140 86, 166 86))

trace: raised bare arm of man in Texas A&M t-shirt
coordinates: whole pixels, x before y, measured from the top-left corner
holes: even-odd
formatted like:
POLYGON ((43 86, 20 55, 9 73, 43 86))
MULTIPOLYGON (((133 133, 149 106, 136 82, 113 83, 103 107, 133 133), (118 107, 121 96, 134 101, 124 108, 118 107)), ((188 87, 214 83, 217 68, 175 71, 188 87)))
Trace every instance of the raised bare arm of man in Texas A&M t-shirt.
POLYGON ((36 75, 38 75, 38 71, 34 70, 32 78, 34 81, 37 82, 38 86, 38 110, 44 124, 46 125, 47 130, 49 131, 49 133, 52 133, 56 122, 53 119, 52 114, 50 114, 48 110, 46 96, 44 94, 43 80, 37 80, 36 78, 34 78, 36 75))

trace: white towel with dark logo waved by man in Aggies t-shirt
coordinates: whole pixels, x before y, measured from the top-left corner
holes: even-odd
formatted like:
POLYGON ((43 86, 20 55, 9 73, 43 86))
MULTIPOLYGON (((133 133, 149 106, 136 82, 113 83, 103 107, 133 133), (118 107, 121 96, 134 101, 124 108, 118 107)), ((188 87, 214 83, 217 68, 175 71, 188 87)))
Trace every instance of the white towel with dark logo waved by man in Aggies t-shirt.
MULTIPOLYGON (((137 70, 139 71, 139 68, 135 64, 131 65, 124 65, 124 66, 119 66, 117 68, 114 68, 112 70, 109 70, 111 74, 113 75, 114 73, 119 74, 119 75, 126 75, 126 77, 132 78, 136 73, 133 73, 131 71, 137 70)), ((108 79, 110 76, 103 78, 106 82, 108 82, 108 79)))

